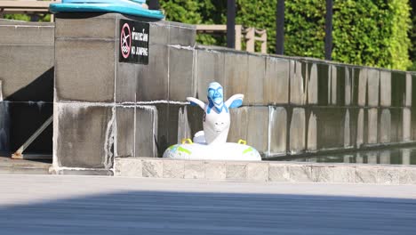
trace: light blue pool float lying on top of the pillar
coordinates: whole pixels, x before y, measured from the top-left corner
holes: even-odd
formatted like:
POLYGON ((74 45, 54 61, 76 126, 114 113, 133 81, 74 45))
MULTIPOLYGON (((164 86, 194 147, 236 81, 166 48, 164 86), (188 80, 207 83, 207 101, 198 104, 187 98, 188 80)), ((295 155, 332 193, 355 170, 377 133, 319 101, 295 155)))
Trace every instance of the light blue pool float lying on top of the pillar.
POLYGON ((153 19, 164 19, 161 11, 143 8, 145 0, 62 0, 50 4, 49 10, 58 12, 117 12, 153 19))

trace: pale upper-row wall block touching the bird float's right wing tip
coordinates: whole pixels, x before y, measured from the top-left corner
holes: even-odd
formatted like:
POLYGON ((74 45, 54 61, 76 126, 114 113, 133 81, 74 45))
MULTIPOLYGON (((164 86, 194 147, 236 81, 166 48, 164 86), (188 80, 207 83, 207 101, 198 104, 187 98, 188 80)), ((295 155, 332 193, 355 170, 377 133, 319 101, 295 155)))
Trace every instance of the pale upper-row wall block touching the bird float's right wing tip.
POLYGON ((266 93, 264 92, 265 75, 266 57, 249 55, 247 93, 244 93, 244 103, 260 105, 267 102, 266 93))

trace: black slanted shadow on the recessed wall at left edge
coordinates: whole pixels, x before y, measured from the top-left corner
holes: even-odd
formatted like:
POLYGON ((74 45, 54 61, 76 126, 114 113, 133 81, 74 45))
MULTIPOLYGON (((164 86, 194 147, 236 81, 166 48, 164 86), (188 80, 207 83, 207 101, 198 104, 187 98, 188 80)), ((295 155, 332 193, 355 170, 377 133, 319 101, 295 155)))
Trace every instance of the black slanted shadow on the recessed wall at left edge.
MULTIPOLYGON (((53 114, 53 73, 48 69, 29 85, 5 98, 1 115, 7 117, 8 136, 0 151, 11 155, 53 114)), ((4 80, 4 84, 7 80, 4 80)), ((24 154, 52 155, 52 125, 40 134, 24 154)))

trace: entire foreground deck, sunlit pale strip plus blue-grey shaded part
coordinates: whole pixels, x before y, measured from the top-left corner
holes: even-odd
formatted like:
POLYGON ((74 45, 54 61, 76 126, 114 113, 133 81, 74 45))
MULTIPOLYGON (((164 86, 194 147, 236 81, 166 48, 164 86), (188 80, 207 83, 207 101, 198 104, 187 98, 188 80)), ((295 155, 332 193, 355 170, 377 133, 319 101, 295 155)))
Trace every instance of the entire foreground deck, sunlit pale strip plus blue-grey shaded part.
POLYGON ((416 188, 4 174, 0 213, 4 235, 415 234, 416 188))

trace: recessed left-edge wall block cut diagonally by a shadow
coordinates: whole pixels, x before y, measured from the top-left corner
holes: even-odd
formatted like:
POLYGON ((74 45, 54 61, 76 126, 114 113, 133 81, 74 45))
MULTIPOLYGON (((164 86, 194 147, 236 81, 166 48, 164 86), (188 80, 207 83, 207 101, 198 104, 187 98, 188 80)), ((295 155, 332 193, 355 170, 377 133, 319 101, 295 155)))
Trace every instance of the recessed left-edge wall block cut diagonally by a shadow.
POLYGON ((0 45, 0 54, 4 101, 53 101, 53 46, 0 45))

